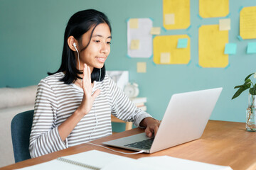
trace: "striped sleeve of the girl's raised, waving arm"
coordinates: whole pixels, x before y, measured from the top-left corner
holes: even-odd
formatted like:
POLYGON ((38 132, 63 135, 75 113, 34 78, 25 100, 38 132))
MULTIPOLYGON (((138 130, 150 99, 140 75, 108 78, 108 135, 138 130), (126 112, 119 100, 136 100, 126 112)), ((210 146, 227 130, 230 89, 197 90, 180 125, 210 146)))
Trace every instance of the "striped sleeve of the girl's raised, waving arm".
POLYGON ((30 136, 31 157, 39 157, 67 148, 58 133, 56 112, 58 102, 53 89, 41 80, 36 94, 35 111, 30 136))

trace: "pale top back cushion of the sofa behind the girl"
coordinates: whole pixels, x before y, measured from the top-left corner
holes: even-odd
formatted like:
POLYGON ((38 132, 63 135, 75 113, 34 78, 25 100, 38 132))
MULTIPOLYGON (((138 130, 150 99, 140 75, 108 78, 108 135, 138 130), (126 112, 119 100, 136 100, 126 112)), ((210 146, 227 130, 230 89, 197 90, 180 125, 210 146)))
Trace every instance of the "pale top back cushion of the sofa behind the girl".
POLYGON ((0 108, 30 105, 35 103, 37 86, 0 88, 0 108))

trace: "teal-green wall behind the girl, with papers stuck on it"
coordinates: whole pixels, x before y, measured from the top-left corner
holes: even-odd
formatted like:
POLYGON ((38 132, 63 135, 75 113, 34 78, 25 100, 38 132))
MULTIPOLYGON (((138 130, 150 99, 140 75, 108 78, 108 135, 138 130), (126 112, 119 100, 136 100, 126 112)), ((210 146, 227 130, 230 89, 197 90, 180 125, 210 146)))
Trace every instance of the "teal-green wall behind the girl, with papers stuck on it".
POLYGON ((218 24, 219 18, 198 18, 198 0, 191 0, 191 29, 167 30, 161 35, 190 34, 191 64, 155 65, 152 59, 127 57, 127 18, 153 19, 162 26, 161 0, 1 0, 0 1, 0 87, 38 84, 60 66, 63 35, 73 13, 95 8, 107 14, 112 23, 112 51, 108 70, 128 70, 129 79, 139 84, 139 96, 148 98, 147 108, 161 119, 172 94, 223 86, 223 93, 211 115, 212 120, 245 122, 247 93, 231 101, 234 86, 256 71, 256 55, 245 53, 247 42, 239 41, 239 8, 256 6, 255 0, 230 0, 231 30, 229 42, 238 44, 230 55, 230 67, 199 68, 198 26, 218 24), (147 63, 146 73, 137 73, 137 62, 147 63))

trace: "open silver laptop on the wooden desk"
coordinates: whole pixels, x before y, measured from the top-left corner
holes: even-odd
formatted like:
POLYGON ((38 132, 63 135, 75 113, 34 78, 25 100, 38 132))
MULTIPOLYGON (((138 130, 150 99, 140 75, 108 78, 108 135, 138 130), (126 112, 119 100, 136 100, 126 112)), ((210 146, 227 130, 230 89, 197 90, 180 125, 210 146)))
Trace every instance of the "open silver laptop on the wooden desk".
POLYGON ((171 96, 155 137, 139 133, 117 140, 103 142, 104 145, 121 147, 145 153, 197 140, 203 134, 210 114, 215 107, 223 88, 192 91, 171 96))

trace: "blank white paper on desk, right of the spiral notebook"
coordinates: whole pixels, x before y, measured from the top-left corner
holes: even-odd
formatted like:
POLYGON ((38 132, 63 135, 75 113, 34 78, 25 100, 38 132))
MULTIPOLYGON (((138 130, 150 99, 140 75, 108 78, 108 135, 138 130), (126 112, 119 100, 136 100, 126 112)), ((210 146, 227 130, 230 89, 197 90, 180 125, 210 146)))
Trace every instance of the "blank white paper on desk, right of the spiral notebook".
POLYGON ((142 157, 138 159, 142 164, 148 164, 152 166, 163 166, 167 169, 196 169, 196 170, 232 170, 230 166, 220 166, 215 164, 206 164, 203 162, 195 162, 187 159, 179 159, 169 156, 160 157, 142 157))

